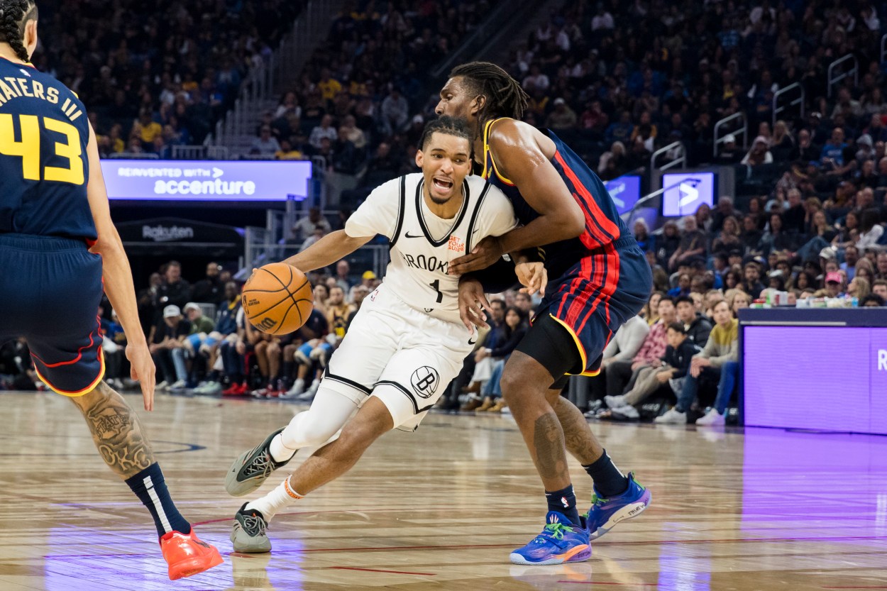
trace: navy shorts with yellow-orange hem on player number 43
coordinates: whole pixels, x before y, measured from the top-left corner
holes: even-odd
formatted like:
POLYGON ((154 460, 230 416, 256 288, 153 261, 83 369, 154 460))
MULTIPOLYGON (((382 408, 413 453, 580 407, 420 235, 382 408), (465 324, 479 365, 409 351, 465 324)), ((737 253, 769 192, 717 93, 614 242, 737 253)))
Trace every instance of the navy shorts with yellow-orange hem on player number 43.
POLYGON ((40 379, 82 396, 105 375, 102 257, 83 240, 0 234, 0 343, 24 336, 40 379))

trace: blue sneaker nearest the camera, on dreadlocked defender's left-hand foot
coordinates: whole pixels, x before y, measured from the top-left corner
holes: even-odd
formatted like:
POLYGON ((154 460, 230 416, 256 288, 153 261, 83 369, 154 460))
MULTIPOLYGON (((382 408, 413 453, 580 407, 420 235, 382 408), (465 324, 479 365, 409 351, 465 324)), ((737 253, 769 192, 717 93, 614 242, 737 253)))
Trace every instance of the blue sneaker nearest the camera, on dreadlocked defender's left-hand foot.
POLYGON ((561 564, 588 560, 591 556, 585 524, 571 524, 567 517, 549 511, 542 533, 514 550, 510 558, 514 564, 561 564))

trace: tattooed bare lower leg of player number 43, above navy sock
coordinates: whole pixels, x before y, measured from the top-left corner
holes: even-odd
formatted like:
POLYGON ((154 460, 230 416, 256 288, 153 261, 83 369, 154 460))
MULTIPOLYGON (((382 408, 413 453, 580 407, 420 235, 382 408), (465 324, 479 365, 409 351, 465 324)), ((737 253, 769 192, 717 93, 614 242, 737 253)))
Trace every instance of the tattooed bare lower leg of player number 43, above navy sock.
POLYGON ((89 394, 71 398, 86 423, 102 460, 123 479, 155 462, 151 444, 135 411, 105 382, 89 394))

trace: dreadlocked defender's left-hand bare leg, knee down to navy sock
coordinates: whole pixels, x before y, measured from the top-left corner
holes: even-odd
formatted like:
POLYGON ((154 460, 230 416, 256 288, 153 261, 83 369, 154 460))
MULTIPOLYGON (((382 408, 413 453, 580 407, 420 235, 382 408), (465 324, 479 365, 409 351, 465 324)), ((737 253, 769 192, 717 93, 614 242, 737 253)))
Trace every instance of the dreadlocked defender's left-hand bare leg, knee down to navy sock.
POLYGON ((502 396, 521 429, 546 491, 569 486, 564 431, 546 400, 552 376, 536 359, 514 351, 502 372, 502 396))

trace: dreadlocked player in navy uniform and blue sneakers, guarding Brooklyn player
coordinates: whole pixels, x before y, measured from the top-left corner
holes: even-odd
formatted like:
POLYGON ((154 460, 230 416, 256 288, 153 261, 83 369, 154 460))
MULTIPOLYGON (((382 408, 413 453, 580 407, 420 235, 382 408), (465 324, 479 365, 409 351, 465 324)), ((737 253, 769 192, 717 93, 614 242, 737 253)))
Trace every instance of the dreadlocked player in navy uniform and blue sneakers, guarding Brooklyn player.
MULTIPOLYGON (((550 130, 521 118, 527 94, 501 67, 455 67, 436 113, 465 118, 474 132, 482 176, 512 201, 522 226, 488 237, 450 272, 476 272, 503 252, 539 248, 549 283, 530 331, 508 359, 502 393, 530 449, 548 501, 546 526, 513 563, 585 560, 588 542, 647 508, 650 493, 616 469, 582 413, 561 390, 568 374, 594 375, 610 337, 635 316, 652 288, 649 265, 600 178, 550 130), (567 450, 593 478, 592 508, 579 516, 567 450)), ((481 279, 480 275, 478 276, 481 279)), ((463 275, 464 322, 483 324, 481 282, 463 275)))

